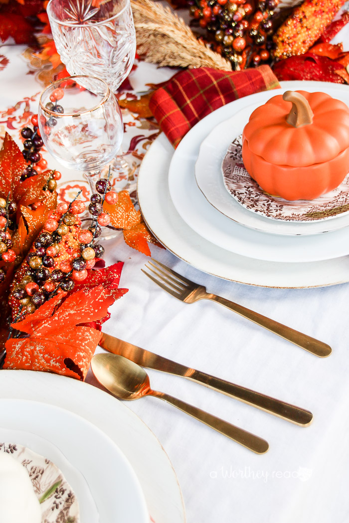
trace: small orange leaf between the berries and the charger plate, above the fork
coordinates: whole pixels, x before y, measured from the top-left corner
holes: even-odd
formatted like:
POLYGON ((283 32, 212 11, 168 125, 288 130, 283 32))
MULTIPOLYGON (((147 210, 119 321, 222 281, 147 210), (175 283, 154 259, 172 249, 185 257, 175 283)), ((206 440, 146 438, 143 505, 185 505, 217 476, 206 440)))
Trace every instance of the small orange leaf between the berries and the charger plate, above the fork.
POLYGON ((161 246, 145 225, 140 211, 134 209, 128 191, 120 191, 115 205, 104 202, 104 210, 110 215, 110 223, 116 229, 122 229, 125 242, 137 251, 151 256, 147 242, 161 246))

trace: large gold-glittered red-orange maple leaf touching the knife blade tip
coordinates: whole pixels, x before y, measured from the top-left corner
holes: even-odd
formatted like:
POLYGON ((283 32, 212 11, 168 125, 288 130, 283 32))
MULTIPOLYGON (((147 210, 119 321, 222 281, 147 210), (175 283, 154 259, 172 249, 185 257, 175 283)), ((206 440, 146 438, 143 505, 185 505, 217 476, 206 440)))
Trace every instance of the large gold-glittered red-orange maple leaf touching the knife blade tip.
POLYGON ((78 324, 102 319, 114 298, 99 285, 75 292, 59 305, 60 300, 57 295, 12 324, 29 337, 6 342, 4 369, 41 370, 85 379, 101 334, 78 324))

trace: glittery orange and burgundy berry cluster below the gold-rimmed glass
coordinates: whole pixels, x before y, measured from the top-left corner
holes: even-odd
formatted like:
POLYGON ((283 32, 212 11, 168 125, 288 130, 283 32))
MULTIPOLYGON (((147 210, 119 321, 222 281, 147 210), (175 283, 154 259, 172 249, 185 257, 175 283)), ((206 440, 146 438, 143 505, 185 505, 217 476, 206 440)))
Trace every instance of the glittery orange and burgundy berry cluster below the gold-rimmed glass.
POLYGON ((70 204, 59 203, 57 209, 50 211, 44 230, 26 258, 24 276, 11 292, 11 297, 19 300, 20 310, 25 308, 30 314, 54 294, 65 295, 75 282, 87 278, 87 269, 92 269, 96 259, 104 255, 104 247, 95 242, 102 233, 101 226, 110 223, 109 215, 103 212, 103 203, 116 203, 118 195, 111 191, 109 177, 96 182, 96 191, 88 206, 93 217, 88 229, 80 229, 78 215, 86 207, 76 199, 78 195, 70 204), (71 246, 72 238, 75 247, 71 246))

